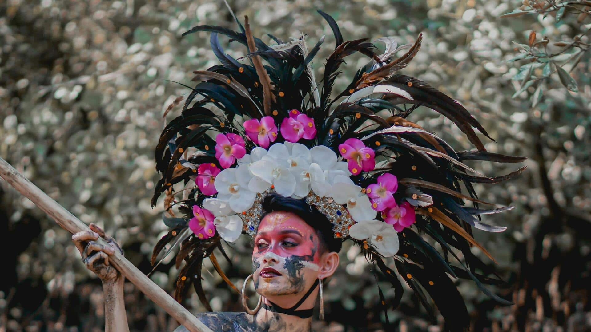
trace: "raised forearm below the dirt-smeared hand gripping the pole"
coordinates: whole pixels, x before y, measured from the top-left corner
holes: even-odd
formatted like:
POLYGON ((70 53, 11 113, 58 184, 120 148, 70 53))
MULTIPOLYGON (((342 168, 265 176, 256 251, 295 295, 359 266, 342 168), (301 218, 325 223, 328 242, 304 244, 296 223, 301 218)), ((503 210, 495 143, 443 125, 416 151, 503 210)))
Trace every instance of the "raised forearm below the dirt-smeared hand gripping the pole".
POLYGON ((123 292, 124 278, 103 282, 105 295, 105 332, 129 331, 123 292))

